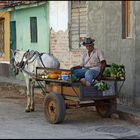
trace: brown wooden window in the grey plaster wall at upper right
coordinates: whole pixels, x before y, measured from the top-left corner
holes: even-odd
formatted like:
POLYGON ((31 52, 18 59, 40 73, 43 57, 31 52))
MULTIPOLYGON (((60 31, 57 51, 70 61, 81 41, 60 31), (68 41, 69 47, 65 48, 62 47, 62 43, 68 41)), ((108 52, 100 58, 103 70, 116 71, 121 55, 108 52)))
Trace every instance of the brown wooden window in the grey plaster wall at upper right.
POLYGON ((122 1, 122 37, 132 37, 132 1, 122 1))

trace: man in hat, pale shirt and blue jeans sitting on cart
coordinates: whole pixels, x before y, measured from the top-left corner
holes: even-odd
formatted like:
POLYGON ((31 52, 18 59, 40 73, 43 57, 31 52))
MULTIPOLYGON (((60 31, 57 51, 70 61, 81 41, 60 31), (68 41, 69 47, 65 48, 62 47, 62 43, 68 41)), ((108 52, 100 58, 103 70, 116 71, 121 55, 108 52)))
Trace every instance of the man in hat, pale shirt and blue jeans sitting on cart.
POLYGON ((95 79, 100 80, 106 67, 106 60, 103 52, 94 47, 95 40, 85 38, 83 45, 87 51, 82 56, 82 62, 78 66, 72 67, 73 76, 80 77, 84 86, 91 86, 95 79))

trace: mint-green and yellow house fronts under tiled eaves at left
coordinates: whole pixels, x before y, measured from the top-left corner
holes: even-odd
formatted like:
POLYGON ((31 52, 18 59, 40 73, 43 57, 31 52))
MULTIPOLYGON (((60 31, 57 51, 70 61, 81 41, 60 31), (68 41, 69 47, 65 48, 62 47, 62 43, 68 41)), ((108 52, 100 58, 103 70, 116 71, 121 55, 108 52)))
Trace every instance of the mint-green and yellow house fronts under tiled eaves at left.
MULTIPOLYGON (((10 67, 12 50, 37 50, 49 52, 48 2, 6 3, 0 12, 1 43, 0 65, 2 76, 14 76, 10 67), (3 61, 2 61, 3 60, 3 61)), ((22 74, 17 79, 23 79, 22 74)))

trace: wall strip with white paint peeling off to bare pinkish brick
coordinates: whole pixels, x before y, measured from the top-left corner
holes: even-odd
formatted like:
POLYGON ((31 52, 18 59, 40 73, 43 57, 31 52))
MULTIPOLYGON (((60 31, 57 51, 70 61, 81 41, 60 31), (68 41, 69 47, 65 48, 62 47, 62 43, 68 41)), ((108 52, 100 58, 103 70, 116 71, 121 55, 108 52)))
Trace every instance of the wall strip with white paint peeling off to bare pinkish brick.
POLYGON ((50 49, 60 61, 61 68, 79 64, 81 52, 70 51, 68 1, 50 1, 50 49))

